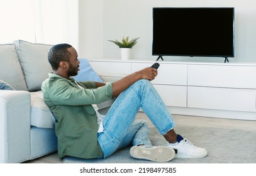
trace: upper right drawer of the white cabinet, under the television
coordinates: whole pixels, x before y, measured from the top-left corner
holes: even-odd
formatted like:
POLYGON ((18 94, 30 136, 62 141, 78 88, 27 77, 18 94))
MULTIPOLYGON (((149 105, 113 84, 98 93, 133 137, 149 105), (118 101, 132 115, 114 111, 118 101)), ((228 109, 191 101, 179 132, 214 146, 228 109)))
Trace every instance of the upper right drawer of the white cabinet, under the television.
POLYGON ((188 65, 187 84, 206 87, 256 89, 256 67, 188 65))

